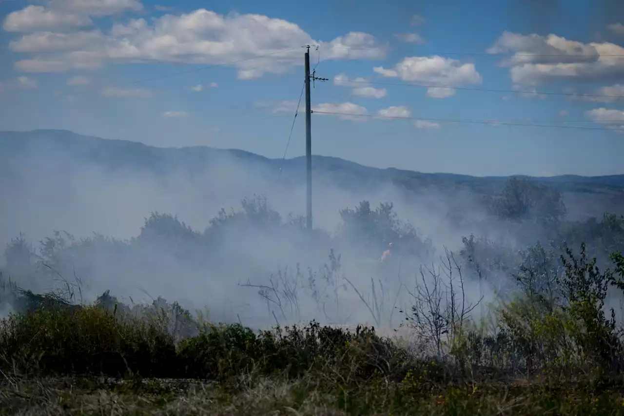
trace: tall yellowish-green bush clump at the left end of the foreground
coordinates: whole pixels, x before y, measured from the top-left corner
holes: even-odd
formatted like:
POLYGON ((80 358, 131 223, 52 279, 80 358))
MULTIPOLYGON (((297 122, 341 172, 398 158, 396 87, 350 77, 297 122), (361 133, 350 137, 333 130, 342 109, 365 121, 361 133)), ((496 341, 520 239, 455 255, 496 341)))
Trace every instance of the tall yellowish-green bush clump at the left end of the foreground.
POLYGON ((97 307, 40 309, 0 325, 4 372, 149 377, 175 362, 173 339, 157 325, 121 321, 97 307))

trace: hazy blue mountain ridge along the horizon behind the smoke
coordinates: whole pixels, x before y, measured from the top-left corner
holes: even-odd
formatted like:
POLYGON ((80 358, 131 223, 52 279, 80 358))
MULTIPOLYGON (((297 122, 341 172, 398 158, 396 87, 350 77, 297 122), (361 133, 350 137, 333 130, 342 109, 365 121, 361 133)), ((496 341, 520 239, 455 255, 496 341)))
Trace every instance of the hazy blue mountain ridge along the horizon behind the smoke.
MULTIPOLYGON (((32 131, 0 131, 0 155, 16 157, 23 155, 29 147, 36 144, 54 146, 72 156, 82 156, 90 161, 105 164, 112 168, 124 165, 144 167, 156 172, 166 171, 167 167, 187 167, 202 169, 206 161, 217 161, 224 154, 246 163, 264 166, 266 169, 290 171, 301 176, 305 169, 305 157, 291 159, 271 159, 241 149, 218 149, 209 146, 157 147, 142 142, 105 139, 97 136, 84 136, 69 130, 37 129, 32 131)), ((1 157, 1 156, 0 156, 1 157)), ((314 171, 329 174, 347 174, 356 177, 372 177, 379 180, 402 184, 406 187, 416 185, 469 184, 470 187, 489 191, 510 177, 530 179, 565 188, 599 186, 624 190, 624 174, 606 176, 580 176, 564 174, 559 176, 539 177, 528 175, 510 176, 471 176, 448 172, 418 172, 396 167, 371 167, 348 161, 339 157, 313 155, 314 171)), ((489 192, 486 192, 489 193, 489 192)))

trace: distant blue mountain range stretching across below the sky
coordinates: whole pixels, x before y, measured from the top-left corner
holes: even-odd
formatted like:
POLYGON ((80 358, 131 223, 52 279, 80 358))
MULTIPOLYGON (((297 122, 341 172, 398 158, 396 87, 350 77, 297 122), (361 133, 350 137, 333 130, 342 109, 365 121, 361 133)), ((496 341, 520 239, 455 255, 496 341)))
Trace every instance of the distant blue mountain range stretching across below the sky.
MULTIPOLYGON (((278 174, 287 181, 303 181, 305 158, 269 159, 237 149, 214 149, 212 147, 163 148, 147 146, 139 142, 101 139, 82 136, 66 130, 36 130, 26 132, 0 132, 0 172, 7 165, 18 167, 19 162, 32 157, 33 151, 54 149, 76 161, 97 164, 105 169, 140 169, 154 174, 167 174, 175 170, 202 172, 211 164, 230 157, 248 167, 256 167, 268 174, 278 174)), ((44 155, 42 155, 44 156, 44 155)), ((52 157, 52 156, 51 156, 52 157)), ((376 184, 392 183, 408 191, 419 192, 429 187, 454 191, 469 189, 479 194, 490 194, 499 189, 509 177, 475 177, 448 173, 422 173, 401 169, 362 166, 338 157, 313 156, 315 174, 328 178, 338 186, 365 188, 376 184)), ((619 194, 624 192, 624 174, 612 176, 562 175, 553 177, 517 176, 550 184, 564 192, 619 194)))

